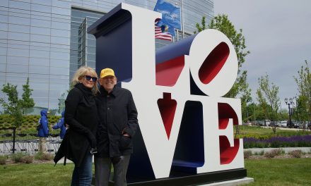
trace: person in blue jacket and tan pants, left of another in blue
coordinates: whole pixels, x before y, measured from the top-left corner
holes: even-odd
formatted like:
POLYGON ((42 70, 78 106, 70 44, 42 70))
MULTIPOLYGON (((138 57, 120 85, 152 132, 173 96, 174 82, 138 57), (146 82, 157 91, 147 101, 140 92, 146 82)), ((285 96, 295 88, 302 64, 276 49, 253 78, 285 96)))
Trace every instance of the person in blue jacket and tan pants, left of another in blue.
POLYGON ((47 137, 49 136, 49 127, 47 122, 47 110, 41 110, 41 118, 38 121, 40 125, 37 135, 39 136, 39 151, 47 153, 47 137))

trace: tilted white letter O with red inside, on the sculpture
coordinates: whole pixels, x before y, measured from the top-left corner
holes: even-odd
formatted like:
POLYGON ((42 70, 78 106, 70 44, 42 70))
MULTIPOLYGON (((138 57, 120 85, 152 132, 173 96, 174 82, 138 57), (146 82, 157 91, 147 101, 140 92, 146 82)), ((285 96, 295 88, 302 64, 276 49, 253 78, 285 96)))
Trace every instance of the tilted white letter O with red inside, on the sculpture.
POLYGON ((211 97, 225 95, 237 78, 233 44, 218 30, 204 30, 194 38, 186 58, 196 86, 211 97))

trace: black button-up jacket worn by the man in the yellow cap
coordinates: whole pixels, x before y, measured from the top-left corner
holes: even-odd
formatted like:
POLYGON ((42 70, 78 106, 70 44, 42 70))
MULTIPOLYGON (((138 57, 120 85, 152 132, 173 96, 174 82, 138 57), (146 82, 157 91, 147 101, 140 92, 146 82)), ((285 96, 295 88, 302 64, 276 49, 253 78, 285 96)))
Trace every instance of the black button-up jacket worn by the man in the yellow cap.
POLYGON ((98 154, 95 156, 116 157, 133 152, 132 137, 139 125, 137 110, 128 89, 114 87, 110 94, 100 87, 96 97, 99 125, 96 140, 98 154), (126 132, 130 137, 124 137, 126 132))

